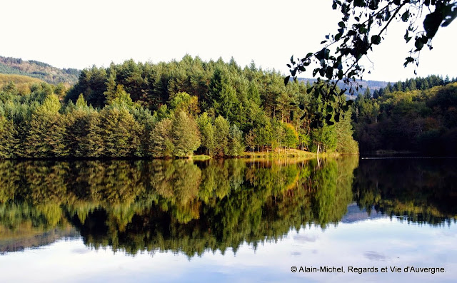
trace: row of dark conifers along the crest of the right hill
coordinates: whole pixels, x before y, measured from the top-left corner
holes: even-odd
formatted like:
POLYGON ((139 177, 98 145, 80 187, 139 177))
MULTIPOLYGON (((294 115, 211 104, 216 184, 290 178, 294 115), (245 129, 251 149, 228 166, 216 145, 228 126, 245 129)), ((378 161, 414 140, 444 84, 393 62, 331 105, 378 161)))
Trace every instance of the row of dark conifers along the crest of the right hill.
POLYGON ((409 78, 406 81, 398 81, 396 83, 388 83, 385 88, 379 88, 373 92, 373 98, 378 98, 379 96, 389 95, 394 91, 416 91, 421 90, 425 91, 428 88, 433 88, 433 86, 445 86, 448 83, 455 83, 457 78, 442 78, 440 76, 427 76, 426 78, 409 78))

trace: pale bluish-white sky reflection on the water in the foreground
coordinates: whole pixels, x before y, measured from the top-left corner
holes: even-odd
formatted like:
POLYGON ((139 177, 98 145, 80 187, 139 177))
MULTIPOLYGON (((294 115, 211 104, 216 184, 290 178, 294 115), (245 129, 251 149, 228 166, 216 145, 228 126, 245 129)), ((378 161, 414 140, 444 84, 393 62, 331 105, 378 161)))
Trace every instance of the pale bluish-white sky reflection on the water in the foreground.
POLYGON ((0 256, 4 282, 453 282, 457 276, 456 225, 411 225, 382 217, 306 227, 255 249, 244 243, 224 255, 206 251, 189 259, 173 252, 135 256, 91 249, 81 238, 0 256), (291 267, 343 267, 346 273, 291 272, 291 267), (349 273, 348 267, 377 267, 349 273), (444 267, 445 273, 405 273, 404 267, 444 267), (381 272, 388 267, 388 272, 381 272), (401 267, 393 273, 389 267, 401 267))

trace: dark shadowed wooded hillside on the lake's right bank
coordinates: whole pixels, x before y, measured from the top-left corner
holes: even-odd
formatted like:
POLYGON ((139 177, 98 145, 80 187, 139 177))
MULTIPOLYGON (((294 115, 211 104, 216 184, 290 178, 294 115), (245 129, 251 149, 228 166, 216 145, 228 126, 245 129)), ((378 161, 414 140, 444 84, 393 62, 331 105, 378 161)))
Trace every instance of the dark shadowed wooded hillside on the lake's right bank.
POLYGON ((378 98, 366 92, 353 104, 354 138, 361 151, 456 154, 456 109, 457 83, 393 91, 378 98))

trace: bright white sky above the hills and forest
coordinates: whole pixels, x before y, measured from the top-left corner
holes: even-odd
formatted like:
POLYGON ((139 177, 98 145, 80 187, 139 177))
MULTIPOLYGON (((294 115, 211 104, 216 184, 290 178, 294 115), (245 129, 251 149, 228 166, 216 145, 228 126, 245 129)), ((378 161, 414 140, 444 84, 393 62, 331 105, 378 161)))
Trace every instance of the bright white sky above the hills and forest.
MULTIPOLYGON (((321 49, 319 43, 336 33, 341 20, 331 0, 15 0, 3 1, 1 10, 0 56, 79 69, 130 58, 168 62, 189 54, 204 61, 233 56, 242 67, 253 60, 288 74, 291 55, 321 49)), ((411 49, 403 39, 406 26, 394 24, 366 61, 371 74, 364 79, 415 76, 414 68, 403 68, 411 49)), ((421 51, 418 76, 457 76, 456 34, 456 23, 438 30, 433 50, 421 51)), ((311 78, 311 71, 302 76, 311 78)))

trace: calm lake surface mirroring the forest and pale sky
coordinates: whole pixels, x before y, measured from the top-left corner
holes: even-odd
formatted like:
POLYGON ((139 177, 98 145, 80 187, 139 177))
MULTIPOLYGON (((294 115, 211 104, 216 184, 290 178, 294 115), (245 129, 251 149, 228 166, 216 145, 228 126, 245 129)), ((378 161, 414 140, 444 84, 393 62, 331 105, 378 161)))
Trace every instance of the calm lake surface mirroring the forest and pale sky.
POLYGON ((0 281, 456 282, 456 161, 2 161, 0 281))

